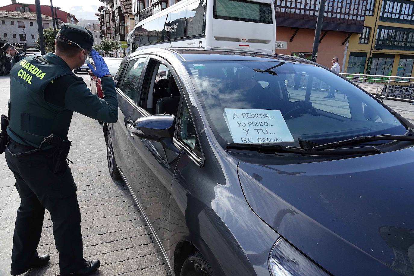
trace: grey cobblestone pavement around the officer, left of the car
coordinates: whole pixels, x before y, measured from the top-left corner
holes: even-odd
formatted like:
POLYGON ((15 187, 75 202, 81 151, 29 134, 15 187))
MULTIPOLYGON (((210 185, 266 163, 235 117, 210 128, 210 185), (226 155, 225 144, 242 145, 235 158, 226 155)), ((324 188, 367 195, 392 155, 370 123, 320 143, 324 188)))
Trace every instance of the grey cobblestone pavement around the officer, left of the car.
MULTIPOLYGON (((89 76, 81 75, 89 86, 89 76)), ((10 78, 0 77, 0 114, 7 114, 10 78)), ((100 259, 101 276, 166 276, 163 255, 122 180, 109 177, 102 125, 77 113, 70 127, 69 158, 82 214, 84 257, 100 259)), ((0 276, 10 275, 10 256, 16 211, 20 198, 13 174, 0 155, 0 276)), ((50 265, 33 269, 24 276, 59 275, 52 235, 52 221, 46 212, 39 254, 51 254, 50 265)))

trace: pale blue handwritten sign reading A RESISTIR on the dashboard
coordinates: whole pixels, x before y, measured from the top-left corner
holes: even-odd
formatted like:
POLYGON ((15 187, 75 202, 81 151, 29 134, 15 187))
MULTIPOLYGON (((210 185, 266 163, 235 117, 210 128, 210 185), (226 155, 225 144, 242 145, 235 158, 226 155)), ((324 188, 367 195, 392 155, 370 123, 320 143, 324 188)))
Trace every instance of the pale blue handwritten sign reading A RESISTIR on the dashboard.
POLYGON ((294 141, 280 110, 225 108, 223 115, 234 143, 294 141))

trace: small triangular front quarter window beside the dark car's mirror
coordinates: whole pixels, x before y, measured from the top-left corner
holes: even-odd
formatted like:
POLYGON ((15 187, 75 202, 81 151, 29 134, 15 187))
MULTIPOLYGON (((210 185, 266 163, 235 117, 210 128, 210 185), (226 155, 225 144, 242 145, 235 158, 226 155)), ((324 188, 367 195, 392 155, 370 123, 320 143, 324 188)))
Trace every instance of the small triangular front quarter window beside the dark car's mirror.
POLYGON ((178 118, 177 139, 181 141, 190 151, 201 158, 200 143, 195 132, 194 121, 191 118, 187 102, 183 100, 180 116, 178 118))

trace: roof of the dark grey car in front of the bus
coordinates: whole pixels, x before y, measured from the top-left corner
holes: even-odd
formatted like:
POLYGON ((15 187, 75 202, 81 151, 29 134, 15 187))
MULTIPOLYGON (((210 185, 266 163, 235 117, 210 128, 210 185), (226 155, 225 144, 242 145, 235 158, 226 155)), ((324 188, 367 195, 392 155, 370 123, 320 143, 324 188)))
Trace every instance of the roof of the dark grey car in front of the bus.
POLYGON ((205 50, 202 48, 145 48, 138 50, 130 57, 140 54, 174 55, 181 61, 211 61, 211 60, 259 60, 280 62, 301 62, 317 65, 303 58, 282 54, 266 54, 236 50, 205 50))

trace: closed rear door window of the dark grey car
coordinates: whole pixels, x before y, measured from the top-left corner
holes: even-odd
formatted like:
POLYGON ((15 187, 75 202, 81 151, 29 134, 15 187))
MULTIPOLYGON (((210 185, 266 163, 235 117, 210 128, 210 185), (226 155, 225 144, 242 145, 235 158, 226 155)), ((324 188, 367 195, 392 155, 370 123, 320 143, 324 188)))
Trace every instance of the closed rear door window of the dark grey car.
POLYGON ((135 97, 137 95, 138 84, 145 59, 146 58, 138 58, 136 60, 130 60, 125 68, 125 72, 121 80, 122 83, 120 82, 119 85, 120 90, 132 101, 135 101, 135 97))

